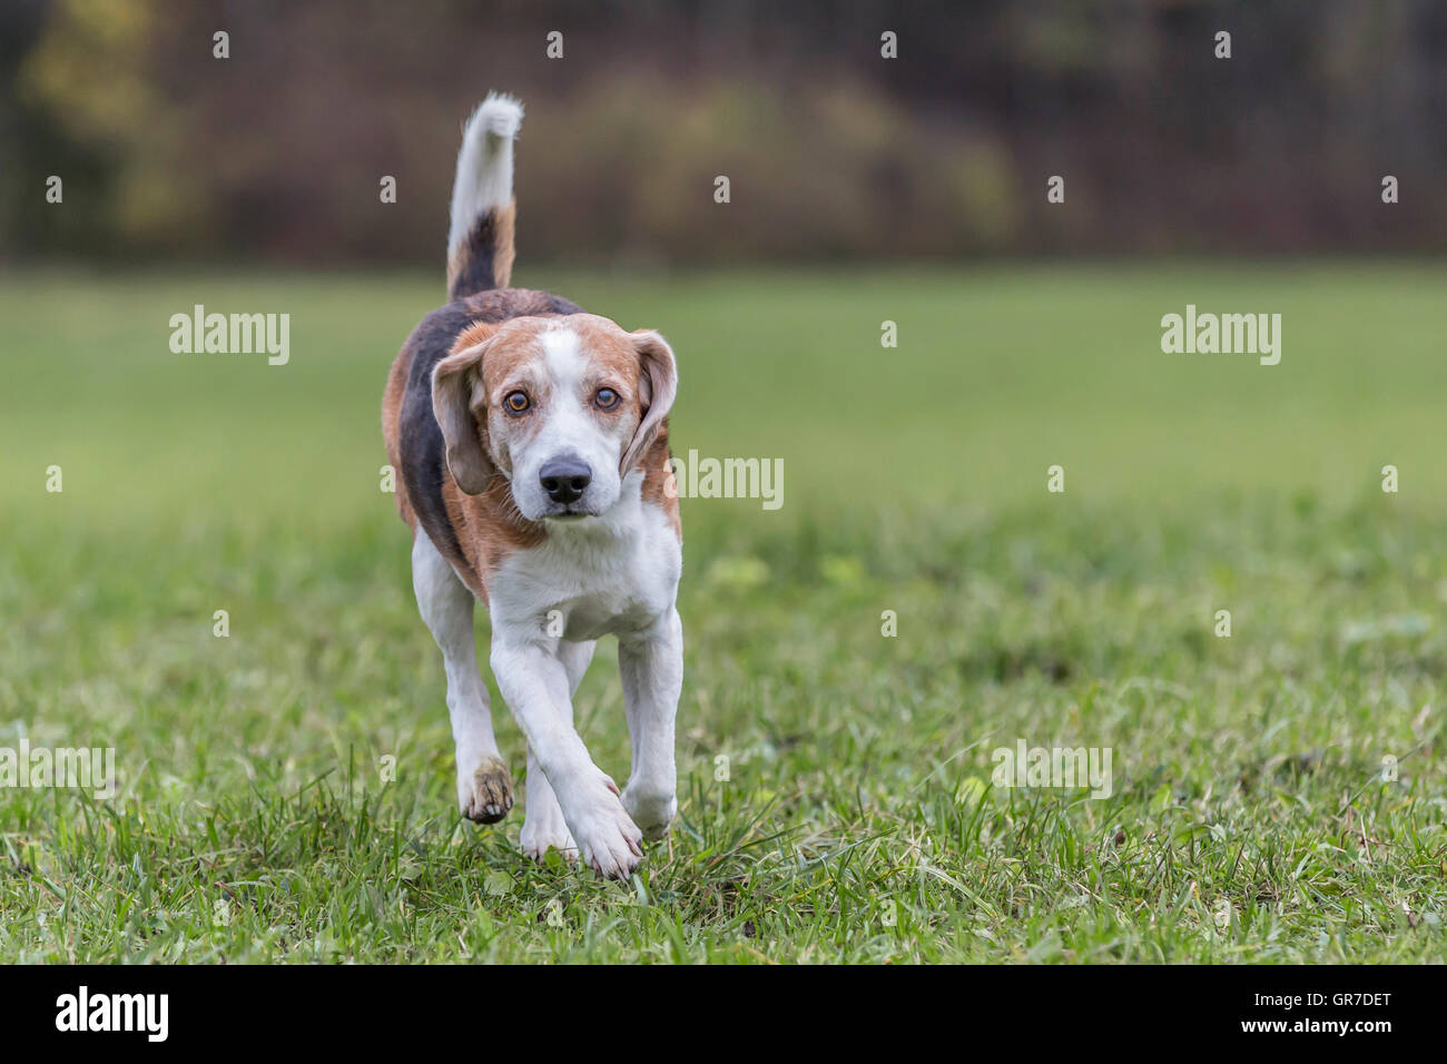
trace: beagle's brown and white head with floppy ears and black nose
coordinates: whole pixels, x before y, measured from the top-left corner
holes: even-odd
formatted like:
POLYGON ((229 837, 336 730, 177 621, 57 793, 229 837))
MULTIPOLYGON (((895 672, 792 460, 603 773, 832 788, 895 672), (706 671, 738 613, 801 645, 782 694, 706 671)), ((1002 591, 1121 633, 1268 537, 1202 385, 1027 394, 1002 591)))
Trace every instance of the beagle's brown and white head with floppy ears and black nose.
POLYGON ((478 495, 502 473, 530 521, 612 508, 676 391, 658 333, 627 333, 596 314, 475 324, 433 371, 457 486, 478 495))

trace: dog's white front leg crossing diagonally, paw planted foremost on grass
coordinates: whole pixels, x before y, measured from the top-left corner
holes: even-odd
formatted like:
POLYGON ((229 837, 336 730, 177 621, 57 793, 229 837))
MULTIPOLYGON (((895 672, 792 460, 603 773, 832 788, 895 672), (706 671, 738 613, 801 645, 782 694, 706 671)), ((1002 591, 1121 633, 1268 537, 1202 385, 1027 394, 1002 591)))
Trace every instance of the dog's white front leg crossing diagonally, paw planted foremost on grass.
POLYGON ((642 832, 624 809, 618 785, 593 764, 573 730, 566 667, 546 643, 493 630, 492 673, 583 861, 603 876, 627 879, 642 856, 642 832))

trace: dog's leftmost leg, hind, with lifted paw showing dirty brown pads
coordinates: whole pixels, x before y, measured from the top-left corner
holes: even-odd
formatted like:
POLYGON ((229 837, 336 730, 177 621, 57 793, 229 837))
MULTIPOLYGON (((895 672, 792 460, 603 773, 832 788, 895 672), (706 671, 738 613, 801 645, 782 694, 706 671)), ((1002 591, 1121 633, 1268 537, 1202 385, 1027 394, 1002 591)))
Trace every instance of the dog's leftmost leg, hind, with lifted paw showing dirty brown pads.
POLYGON ((447 672, 447 712, 457 746, 457 806, 467 819, 496 824, 512 808, 512 777, 498 753, 488 688, 478 673, 472 592, 421 528, 412 541, 412 589, 447 672))

